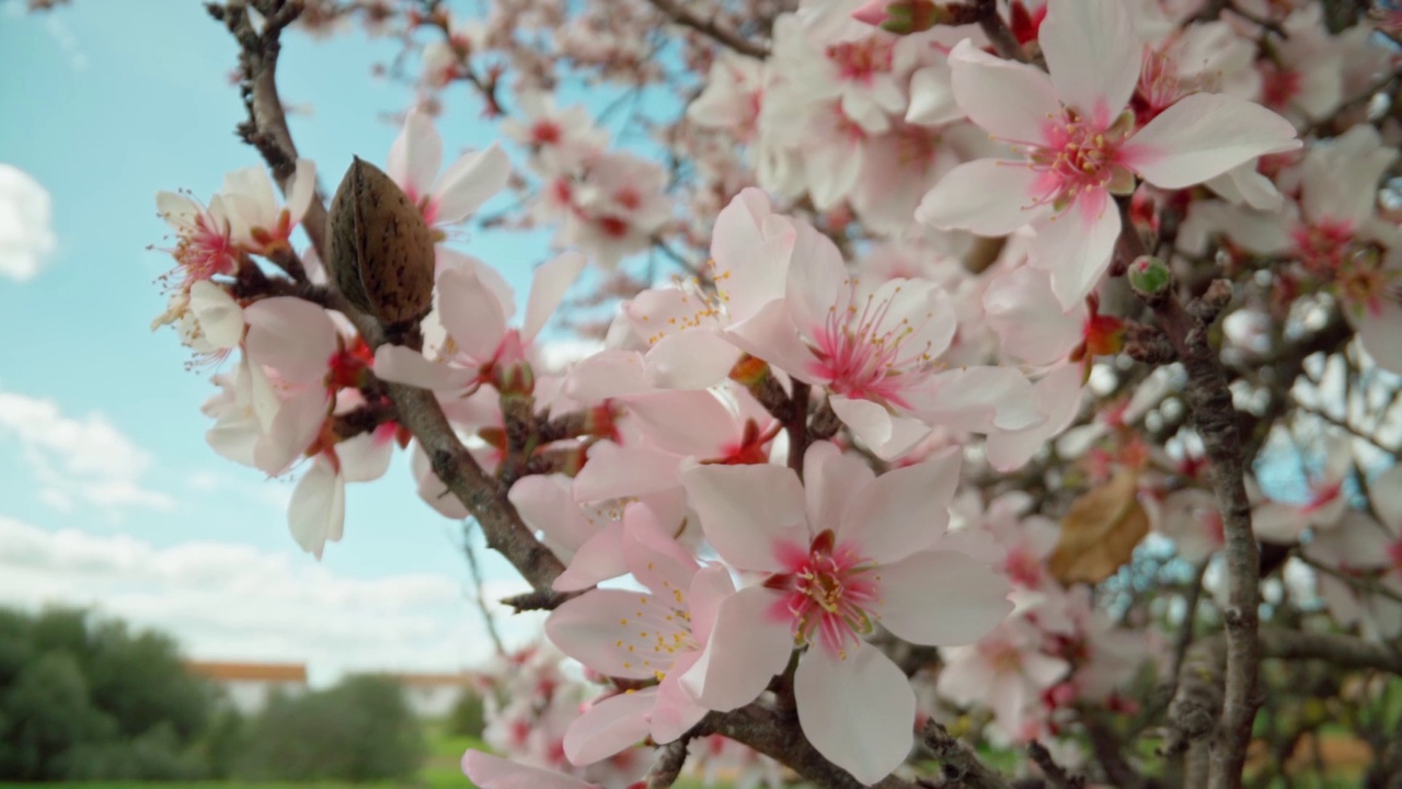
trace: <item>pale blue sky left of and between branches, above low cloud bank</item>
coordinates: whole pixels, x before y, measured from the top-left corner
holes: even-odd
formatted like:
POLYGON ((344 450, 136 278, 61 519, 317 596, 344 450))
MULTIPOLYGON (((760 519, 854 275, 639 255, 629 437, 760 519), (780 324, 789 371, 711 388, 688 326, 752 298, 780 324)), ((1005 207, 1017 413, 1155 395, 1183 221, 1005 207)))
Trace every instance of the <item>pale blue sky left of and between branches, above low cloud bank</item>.
MULTIPOLYGON (((233 131, 243 105, 229 81, 230 37, 195 0, 74 0, 39 15, 17 14, 18 4, 0 0, 0 163, 48 190, 56 248, 38 275, 0 277, 0 396, 29 414, 11 407, 8 428, 0 414, 0 518, 46 533, 123 535, 157 553, 240 543, 304 578, 461 584, 457 526, 415 497, 407 462, 350 487, 345 541, 314 567, 286 531, 292 480, 265 480, 206 446, 209 372, 185 371, 174 333, 150 331, 164 306, 154 279, 171 267, 147 248, 165 236, 156 192, 207 198, 224 173, 258 164, 233 131), (114 498, 112 484, 139 494, 114 498)), ((412 97, 372 79, 370 66, 394 52, 360 32, 287 39, 279 81, 289 104, 310 108, 292 126, 324 188, 352 154, 384 160, 398 129, 380 118, 412 97)), ((495 139, 465 88, 447 105, 446 154, 495 139)), ((467 239, 463 248, 499 265, 519 296, 547 256, 540 234, 467 239)), ((510 577, 501 560, 486 564, 489 577, 510 577)))

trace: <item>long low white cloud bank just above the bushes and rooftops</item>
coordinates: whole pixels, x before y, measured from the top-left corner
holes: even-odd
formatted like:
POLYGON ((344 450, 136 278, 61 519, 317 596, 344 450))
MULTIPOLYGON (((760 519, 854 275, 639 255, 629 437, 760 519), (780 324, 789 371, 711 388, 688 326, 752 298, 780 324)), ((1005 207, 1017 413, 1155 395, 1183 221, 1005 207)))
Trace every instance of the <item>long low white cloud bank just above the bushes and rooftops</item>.
MULTIPOLYGON (((538 615, 495 599, 523 581, 488 584, 509 643, 538 635, 538 615)), ((90 605, 164 630, 205 660, 306 661, 314 684, 343 671, 456 671, 492 646, 465 583, 437 574, 338 576, 250 546, 154 548, 129 536, 46 531, 0 518, 0 604, 90 605)))

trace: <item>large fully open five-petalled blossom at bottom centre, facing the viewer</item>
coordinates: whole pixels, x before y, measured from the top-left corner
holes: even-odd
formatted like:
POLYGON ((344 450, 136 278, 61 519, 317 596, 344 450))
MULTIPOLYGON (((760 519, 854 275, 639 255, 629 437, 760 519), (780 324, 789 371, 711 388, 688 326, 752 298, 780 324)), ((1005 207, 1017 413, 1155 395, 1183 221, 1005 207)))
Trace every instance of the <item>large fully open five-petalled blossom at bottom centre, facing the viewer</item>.
POLYGON ((684 470, 716 553, 764 580, 721 604, 683 685, 733 709, 806 647, 794 677, 803 734, 858 781, 886 776, 910 750, 916 696, 862 636, 879 622, 911 643, 972 643, 1012 609, 1007 580, 935 550, 958 473, 945 452, 876 477, 829 442, 809 448, 803 483, 768 465, 684 470))

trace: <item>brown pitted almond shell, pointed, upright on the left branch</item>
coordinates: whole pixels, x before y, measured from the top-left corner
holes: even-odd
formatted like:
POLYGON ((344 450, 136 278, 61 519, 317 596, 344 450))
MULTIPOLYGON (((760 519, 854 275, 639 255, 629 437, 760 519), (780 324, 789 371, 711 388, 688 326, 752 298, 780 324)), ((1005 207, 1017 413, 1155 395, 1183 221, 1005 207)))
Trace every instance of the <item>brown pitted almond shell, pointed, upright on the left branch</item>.
POLYGON ((433 236, 418 206, 379 167, 356 160, 327 215, 327 270, 352 305, 387 326, 433 306, 433 236))

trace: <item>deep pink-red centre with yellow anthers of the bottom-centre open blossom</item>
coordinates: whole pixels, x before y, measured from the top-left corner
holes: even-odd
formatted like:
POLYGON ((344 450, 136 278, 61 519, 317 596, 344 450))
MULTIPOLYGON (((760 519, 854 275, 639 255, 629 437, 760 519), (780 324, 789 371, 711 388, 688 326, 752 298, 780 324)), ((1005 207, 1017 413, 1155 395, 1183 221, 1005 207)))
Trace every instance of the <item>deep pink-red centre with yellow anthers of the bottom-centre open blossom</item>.
POLYGON ((851 546, 834 542, 831 531, 817 535, 806 555, 785 557, 789 573, 764 585, 784 592, 782 614, 792 618, 795 639, 845 658, 847 646, 872 632, 869 609, 880 601, 880 576, 851 546))

